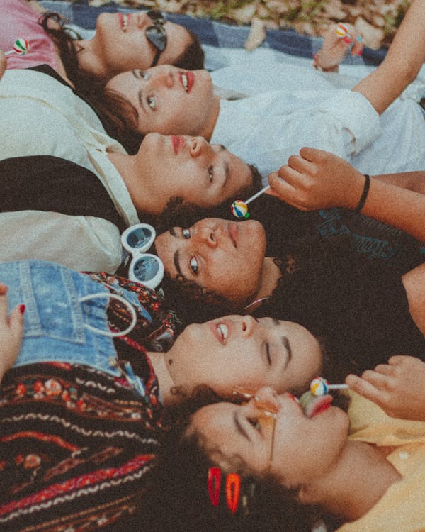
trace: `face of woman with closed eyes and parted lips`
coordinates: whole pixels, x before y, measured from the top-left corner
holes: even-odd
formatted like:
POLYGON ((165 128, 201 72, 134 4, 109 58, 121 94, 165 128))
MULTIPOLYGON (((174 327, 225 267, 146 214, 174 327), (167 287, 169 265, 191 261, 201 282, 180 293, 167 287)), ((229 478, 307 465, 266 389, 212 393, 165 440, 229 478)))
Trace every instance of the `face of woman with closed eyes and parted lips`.
POLYGON ((165 360, 176 386, 190 393, 207 384, 222 397, 231 397, 235 385, 304 391, 322 369, 322 351, 307 329, 253 316, 189 325, 165 360))

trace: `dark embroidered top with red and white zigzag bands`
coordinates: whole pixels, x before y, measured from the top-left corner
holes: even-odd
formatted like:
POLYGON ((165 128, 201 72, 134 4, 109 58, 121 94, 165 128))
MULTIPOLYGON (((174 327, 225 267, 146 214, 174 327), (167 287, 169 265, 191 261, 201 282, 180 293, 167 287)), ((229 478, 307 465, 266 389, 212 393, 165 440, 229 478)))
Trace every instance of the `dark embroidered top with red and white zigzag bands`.
POLYGON ((125 379, 64 363, 13 368, 0 389, 1 531, 120 529, 162 429, 161 409, 125 379))

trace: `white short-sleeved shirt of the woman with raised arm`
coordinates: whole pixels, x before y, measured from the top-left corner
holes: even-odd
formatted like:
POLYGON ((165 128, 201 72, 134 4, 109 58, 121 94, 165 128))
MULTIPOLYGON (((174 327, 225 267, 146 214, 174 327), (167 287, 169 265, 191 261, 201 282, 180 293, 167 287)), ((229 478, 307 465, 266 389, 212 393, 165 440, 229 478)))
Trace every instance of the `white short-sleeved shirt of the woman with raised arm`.
MULTIPOLYGON (((270 172, 286 164, 303 146, 344 157, 363 173, 424 170, 425 122, 417 90, 395 101, 379 117, 360 93, 336 89, 323 76, 313 77, 320 80, 320 90, 265 92, 241 100, 221 100, 211 142, 256 164, 264 184, 270 172), (329 87, 323 89, 324 84, 329 87)), ((229 82, 234 89, 248 86, 232 83, 230 75, 229 82)), ((312 77, 305 82, 303 87, 312 84, 312 77)), ((263 87, 264 82, 256 83, 257 89, 263 87)))

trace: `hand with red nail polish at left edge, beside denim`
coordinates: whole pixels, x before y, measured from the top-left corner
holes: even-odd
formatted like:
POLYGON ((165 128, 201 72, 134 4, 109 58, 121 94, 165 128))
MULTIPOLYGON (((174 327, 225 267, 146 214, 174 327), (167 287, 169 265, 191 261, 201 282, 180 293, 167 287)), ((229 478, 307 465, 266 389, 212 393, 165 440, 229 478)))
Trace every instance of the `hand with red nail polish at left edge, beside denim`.
POLYGON ((8 316, 6 294, 7 286, 0 282, 0 382, 21 349, 25 311, 25 306, 18 305, 8 316))

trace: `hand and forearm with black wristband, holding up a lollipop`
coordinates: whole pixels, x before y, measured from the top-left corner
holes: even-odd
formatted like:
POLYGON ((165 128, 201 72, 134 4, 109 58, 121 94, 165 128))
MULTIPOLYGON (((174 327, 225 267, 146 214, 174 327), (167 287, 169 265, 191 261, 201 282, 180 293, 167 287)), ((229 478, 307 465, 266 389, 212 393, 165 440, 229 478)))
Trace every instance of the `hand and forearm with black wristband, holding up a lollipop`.
MULTIPOLYGON (((341 157, 302 148, 268 182, 271 194, 302 211, 356 209, 365 177, 341 157)), ((361 213, 425 242, 425 172, 371 177, 361 213)))

